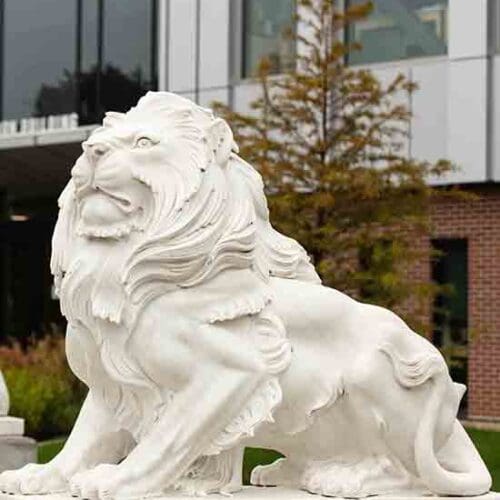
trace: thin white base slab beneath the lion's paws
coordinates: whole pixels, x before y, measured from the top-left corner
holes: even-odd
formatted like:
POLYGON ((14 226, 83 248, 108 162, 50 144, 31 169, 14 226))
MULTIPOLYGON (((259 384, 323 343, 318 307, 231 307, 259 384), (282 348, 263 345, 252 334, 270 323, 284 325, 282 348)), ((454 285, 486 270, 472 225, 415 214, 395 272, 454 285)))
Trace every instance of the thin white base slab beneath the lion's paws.
MULTIPOLYGON (((148 497, 149 498, 149 497, 148 497)), ((155 498, 155 497, 152 497, 155 498)), ((161 497, 162 500, 186 500, 188 497, 179 493, 165 494, 161 497)), ((209 500, 227 500, 226 495, 208 495, 209 500)), ((233 500, 326 500, 329 497, 319 495, 311 495, 301 490, 291 490, 285 488, 257 488, 254 486, 245 487, 232 495, 233 500)), ((435 496, 411 496, 411 495, 384 495, 370 497, 372 500, 430 500, 432 498, 440 498, 435 496)), ((441 497, 446 500, 500 500, 500 493, 490 492, 486 495, 476 497, 441 497)), ((69 493, 57 495, 7 495, 0 493, 0 500, 75 500, 69 493)), ((119 498, 113 500, 120 500, 119 498)), ((128 499, 130 500, 130 499, 128 499)), ((340 499, 339 499, 340 500, 340 499)))

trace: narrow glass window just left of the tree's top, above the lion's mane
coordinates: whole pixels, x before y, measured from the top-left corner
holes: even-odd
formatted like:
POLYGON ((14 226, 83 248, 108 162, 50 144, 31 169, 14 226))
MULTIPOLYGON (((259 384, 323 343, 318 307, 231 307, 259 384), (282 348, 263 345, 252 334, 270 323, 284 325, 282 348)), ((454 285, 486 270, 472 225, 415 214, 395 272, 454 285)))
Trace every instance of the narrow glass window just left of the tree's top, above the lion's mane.
POLYGON ((294 0, 243 0, 243 78, 256 75, 263 57, 271 62, 271 73, 293 65, 295 42, 286 31, 293 26, 294 9, 294 0))

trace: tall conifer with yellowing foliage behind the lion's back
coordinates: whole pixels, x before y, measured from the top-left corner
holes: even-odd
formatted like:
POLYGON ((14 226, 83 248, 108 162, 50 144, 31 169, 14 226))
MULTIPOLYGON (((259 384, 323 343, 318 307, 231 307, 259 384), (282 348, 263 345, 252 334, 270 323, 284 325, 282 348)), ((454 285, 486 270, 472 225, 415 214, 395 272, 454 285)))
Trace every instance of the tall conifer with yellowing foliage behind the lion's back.
POLYGON ((342 34, 371 8, 297 0, 299 29, 287 34, 297 43, 296 66, 270 77, 269 61, 261 62, 251 114, 215 107, 263 175, 273 223, 304 245, 323 281, 394 307, 434 292, 407 270, 421 257, 413 241, 428 230, 436 194, 427 179, 452 166, 408 154, 411 113, 401 103, 416 90, 412 81, 400 74, 383 83, 345 64, 359 47, 342 34))

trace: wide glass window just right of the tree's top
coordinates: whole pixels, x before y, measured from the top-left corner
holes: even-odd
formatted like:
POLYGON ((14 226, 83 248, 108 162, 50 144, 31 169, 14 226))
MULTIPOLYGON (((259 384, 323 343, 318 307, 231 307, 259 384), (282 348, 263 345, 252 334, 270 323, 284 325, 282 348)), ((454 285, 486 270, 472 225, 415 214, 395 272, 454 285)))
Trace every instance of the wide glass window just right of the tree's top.
POLYGON ((349 55, 349 62, 446 54, 447 14, 448 0, 375 0, 372 14, 347 30, 348 40, 362 46, 349 55))

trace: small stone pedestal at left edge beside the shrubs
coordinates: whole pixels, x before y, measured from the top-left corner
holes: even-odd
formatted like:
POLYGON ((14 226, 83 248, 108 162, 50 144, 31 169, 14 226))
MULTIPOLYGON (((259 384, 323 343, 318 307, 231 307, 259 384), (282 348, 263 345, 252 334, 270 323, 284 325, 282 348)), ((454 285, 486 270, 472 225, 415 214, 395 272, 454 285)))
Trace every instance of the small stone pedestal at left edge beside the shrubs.
POLYGON ((37 461, 36 441, 24 434, 24 420, 0 417, 0 472, 37 461))

